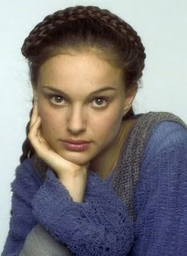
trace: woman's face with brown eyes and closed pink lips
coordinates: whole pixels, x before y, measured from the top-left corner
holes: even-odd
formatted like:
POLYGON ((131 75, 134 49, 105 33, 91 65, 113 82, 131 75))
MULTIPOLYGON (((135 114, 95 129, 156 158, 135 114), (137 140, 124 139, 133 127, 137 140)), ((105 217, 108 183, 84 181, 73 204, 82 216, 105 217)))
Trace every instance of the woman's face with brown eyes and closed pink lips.
POLYGON ((113 146, 124 109, 130 107, 122 71, 94 52, 47 60, 34 94, 46 141, 78 165, 113 146))

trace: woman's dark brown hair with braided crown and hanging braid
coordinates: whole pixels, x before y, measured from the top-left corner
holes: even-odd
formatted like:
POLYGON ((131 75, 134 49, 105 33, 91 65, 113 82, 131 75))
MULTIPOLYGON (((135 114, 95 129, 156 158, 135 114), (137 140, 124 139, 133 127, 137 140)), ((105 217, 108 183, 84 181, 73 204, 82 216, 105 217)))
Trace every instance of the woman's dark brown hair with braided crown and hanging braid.
MULTIPOLYGON (((137 86, 140 81, 145 66, 145 48, 137 32, 109 10, 97 6, 74 6, 46 16, 26 38, 22 54, 29 62, 32 86, 37 86, 39 68, 47 59, 72 50, 92 50, 121 68, 125 90, 137 86)), ((125 119, 133 114, 131 108, 125 119)), ((26 126, 20 162, 34 154, 27 138, 29 127, 30 122, 26 126)))

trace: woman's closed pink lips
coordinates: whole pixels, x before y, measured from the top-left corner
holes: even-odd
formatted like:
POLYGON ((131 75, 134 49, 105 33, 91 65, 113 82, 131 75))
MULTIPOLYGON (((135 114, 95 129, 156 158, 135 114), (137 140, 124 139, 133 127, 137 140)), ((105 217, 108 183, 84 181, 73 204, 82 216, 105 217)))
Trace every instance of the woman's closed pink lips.
POLYGON ((62 145, 66 150, 85 151, 90 147, 90 142, 82 140, 63 140, 62 145))

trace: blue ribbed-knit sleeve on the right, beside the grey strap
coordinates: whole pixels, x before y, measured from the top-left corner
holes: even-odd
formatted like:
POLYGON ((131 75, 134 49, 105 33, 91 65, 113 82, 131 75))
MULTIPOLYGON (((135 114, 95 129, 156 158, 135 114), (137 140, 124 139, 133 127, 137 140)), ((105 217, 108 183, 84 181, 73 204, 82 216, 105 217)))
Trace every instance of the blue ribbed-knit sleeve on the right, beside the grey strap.
POLYGON ((137 182, 133 256, 187 254, 187 132, 161 126, 165 138, 150 140, 137 182))

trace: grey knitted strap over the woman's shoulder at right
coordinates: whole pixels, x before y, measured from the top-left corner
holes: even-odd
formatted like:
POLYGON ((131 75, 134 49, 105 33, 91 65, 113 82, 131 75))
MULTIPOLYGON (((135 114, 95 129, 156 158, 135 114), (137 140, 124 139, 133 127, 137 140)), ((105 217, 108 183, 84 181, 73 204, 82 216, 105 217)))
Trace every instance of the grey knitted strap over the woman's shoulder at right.
POLYGON ((113 189, 123 202, 125 202, 129 210, 129 216, 133 220, 135 220, 133 190, 139 176, 141 158, 143 157, 146 142, 149 140, 154 126, 163 121, 177 122, 187 129, 185 122, 174 114, 167 112, 149 112, 147 114, 141 114, 129 133, 123 151, 121 152, 121 161, 118 163, 117 169, 113 174, 113 189))

